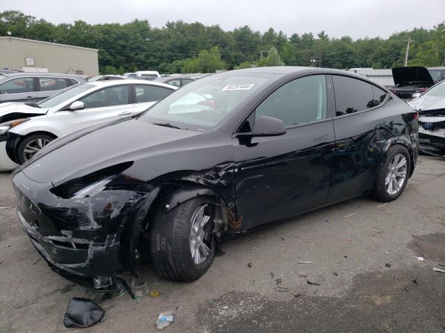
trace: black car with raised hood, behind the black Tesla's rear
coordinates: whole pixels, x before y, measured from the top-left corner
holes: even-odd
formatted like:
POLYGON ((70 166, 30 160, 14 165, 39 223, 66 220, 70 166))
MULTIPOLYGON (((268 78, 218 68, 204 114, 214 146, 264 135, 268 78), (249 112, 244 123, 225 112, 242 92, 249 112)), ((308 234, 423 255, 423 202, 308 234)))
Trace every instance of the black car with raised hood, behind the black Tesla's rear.
POLYGON ((395 87, 389 88, 401 99, 412 99, 412 95, 425 92, 435 81, 425 67, 395 67, 392 69, 395 87))

